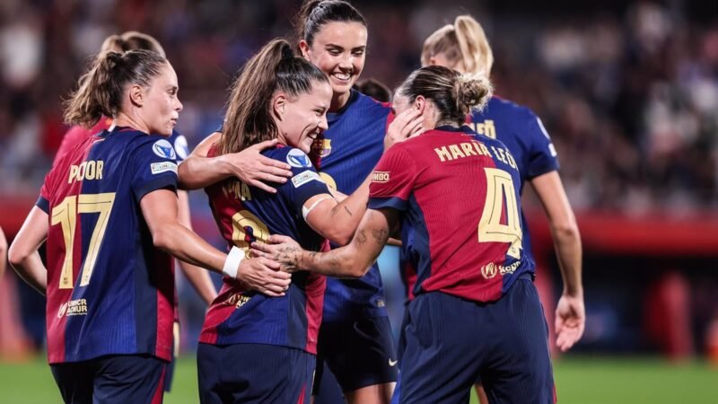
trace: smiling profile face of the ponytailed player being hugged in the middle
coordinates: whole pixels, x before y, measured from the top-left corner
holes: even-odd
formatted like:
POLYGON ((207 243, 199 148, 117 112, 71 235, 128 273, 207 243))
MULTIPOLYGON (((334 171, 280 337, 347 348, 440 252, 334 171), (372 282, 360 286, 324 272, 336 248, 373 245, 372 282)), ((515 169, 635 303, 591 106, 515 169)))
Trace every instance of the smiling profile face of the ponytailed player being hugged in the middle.
POLYGON ((274 109, 280 143, 309 154, 314 139, 328 128, 327 110, 331 96, 331 86, 318 81, 312 83, 311 92, 296 97, 287 97, 278 92, 274 99, 274 109))

